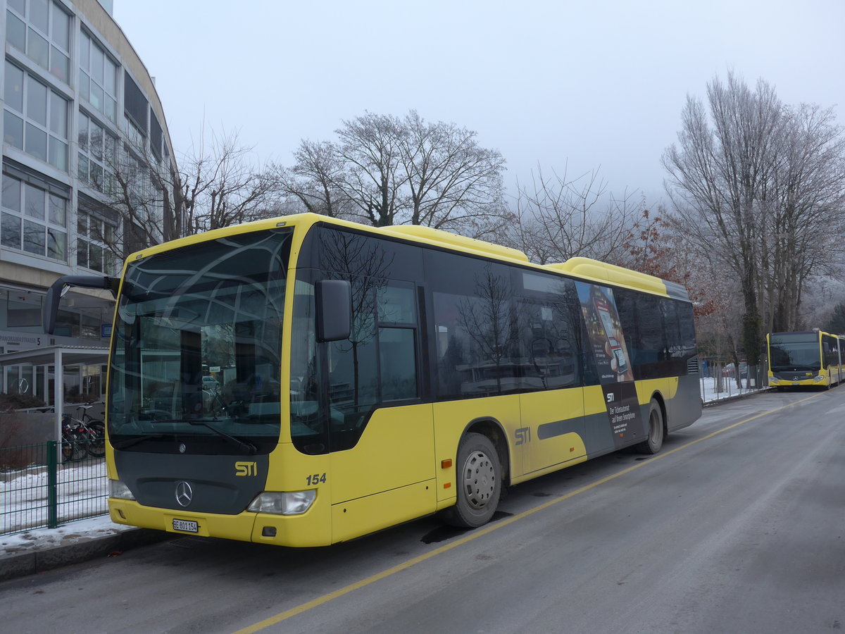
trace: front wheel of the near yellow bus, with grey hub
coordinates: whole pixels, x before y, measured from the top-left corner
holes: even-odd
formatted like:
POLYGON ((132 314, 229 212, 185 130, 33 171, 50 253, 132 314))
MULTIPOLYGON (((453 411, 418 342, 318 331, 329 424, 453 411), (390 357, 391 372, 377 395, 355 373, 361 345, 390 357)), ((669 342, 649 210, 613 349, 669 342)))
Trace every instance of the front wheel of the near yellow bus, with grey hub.
POLYGON ((499 506, 502 467, 487 436, 467 434, 461 440, 455 479, 458 500, 444 511, 444 521, 461 528, 477 528, 489 522, 499 506))

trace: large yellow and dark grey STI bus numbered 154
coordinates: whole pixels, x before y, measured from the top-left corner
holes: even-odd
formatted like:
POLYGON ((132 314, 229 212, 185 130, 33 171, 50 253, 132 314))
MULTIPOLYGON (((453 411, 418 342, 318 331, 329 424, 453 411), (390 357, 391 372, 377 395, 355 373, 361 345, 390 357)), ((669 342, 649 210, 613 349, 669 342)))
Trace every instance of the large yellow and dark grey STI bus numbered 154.
POLYGON ((114 522, 286 546, 439 512, 701 415, 684 287, 428 227, 303 214, 68 276, 117 306, 106 398, 114 522))

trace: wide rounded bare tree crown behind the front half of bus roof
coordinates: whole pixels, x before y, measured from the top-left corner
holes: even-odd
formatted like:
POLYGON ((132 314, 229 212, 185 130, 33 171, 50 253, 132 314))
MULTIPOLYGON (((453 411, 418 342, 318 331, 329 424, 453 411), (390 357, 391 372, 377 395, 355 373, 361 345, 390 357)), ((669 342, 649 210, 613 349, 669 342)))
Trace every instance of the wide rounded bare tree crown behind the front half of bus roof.
POLYGON ((497 150, 455 123, 368 112, 344 121, 336 143, 304 141, 292 167, 276 167, 280 189, 303 210, 375 227, 413 224, 479 238, 504 227, 497 150))

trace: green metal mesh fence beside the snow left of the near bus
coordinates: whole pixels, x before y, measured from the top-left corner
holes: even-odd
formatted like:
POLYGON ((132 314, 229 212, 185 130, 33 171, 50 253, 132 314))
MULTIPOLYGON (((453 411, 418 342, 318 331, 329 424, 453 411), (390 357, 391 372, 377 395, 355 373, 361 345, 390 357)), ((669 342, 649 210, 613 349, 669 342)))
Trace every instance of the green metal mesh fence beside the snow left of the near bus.
POLYGON ((0 447, 0 535, 104 515, 106 461, 59 463, 57 442, 0 447))

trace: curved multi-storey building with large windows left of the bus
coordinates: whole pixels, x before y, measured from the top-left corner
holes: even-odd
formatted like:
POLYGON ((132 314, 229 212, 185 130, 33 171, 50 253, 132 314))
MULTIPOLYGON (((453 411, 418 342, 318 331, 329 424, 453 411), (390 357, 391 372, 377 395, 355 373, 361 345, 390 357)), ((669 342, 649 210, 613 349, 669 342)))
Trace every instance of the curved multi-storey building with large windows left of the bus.
MULTIPOLYGON (((49 337, 41 302, 59 276, 116 274, 128 252, 176 237, 167 228, 175 164, 161 101, 111 0, 0 0, 0 8, 0 354, 104 347, 110 295, 68 293, 49 337)), ((0 391, 52 402, 53 372, 7 359, 0 391)), ((105 392, 98 363, 65 367, 63 382, 71 400, 105 392)))

